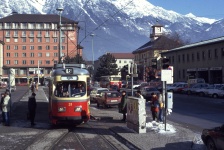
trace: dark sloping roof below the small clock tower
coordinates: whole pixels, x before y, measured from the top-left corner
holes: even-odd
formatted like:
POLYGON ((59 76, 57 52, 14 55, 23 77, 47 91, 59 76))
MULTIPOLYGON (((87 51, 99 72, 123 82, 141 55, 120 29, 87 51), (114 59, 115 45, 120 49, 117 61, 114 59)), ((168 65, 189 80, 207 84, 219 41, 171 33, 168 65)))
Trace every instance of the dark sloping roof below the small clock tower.
POLYGON ((177 47, 178 43, 166 36, 160 36, 154 41, 149 41, 146 44, 142 45, 138 49, 134 50, 132 53, 141 53, 149 50, 167 50, 174 47, 177 47))

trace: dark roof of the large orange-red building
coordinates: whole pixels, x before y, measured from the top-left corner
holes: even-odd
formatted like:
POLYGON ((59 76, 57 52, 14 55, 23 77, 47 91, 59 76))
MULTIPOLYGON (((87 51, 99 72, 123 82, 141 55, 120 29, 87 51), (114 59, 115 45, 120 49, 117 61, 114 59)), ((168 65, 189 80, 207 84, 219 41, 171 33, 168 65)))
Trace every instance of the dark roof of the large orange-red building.
MULTIPOLYGON (((60 20, 59 15, 55 14, 13 14, 0 19, 0 22, 18 22, 18 23, 58 23, 60 20)), ((61 17, 61 22, 65 23, 77 23, 73 20, 61 17)))

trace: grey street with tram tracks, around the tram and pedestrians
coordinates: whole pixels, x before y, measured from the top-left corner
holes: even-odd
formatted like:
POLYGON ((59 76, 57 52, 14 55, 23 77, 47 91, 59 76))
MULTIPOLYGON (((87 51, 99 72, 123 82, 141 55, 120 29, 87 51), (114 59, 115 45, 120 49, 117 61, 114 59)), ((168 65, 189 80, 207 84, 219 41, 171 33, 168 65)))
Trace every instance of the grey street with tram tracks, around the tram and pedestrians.
MULTIPOLYGON (((20 88, 12 93, 14 104, 11 126, 0 126, 0 149, 146 149, 149 145, 150 149, 174 149, 180 145, 183 149, 189 149, 189 140, 194 138, 195 132, 200 135, 203 128, 218 126, 224 119, 223 99, 174 94, 174 109, 171 115, 167 116, 167 122, 172 123, 182 137, 179 138, 179 133, 175 133, 172 136, 167 135, 168 139, 164 139, 166 136, 163 135, 159 143, 145 145, 140 141, 150 140, 159 134, 147 131, 149 133, 139 135, 127 130, 126 123, 120 121, 122 114, 118 113, 116 106, 104 109, 97 108, 95 103, 91 103, 92 119, 88 123, 76 127, 50 126, 47 88, 40 88, 37 92, 36 126, 31 127, 30 122, 26 120, 27 100, 31 93, 27 93, 27 87, 20 88), (22 94, 25 95, 19 98, 22 94), (186 129, 180 129, 178 124, 186 129), (184 142, 180 142, 180 139, 184 142)), ((150 122, 152 117, 148 105, 146 110, 147 122, 150 122)))

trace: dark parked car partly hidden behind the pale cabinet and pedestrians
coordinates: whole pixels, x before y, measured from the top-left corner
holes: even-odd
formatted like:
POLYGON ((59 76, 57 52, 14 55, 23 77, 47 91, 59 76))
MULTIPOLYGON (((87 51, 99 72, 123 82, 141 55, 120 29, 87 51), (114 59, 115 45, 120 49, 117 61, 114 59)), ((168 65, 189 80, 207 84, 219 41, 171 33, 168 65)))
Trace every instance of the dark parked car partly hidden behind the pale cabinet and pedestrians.
POLYGON ((160 94, 160 92, 155 88, 151 86, 145 86, 140 89, 142 96, 146 99, 146 101, 150 101, 152 97, 152 93, 160 94))

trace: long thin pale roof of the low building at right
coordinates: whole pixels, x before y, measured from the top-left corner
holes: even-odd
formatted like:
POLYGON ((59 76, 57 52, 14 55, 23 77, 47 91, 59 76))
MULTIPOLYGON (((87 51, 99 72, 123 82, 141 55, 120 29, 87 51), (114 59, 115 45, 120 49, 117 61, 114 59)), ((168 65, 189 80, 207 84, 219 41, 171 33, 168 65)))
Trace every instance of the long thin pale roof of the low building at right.
POLYGON ((185 45, 185 46, 181 46, 181 47, 174 48, 174 49, 171 49, 167 52, 162 52, 162 53, 165 54, 165 53, 170 53, 170 52, 173 52, 173 51, 185 50, 185 49, 189 49, 189 48, 204 46, 204 45, 213 44, 213 43, 220 43, 220 42, 224 42, 224 36, 214 38, 214 39, 210 39, 210 40, 197 42, 197 43, 193 43, 193 44, 189 44, 189 45, 185 45))

